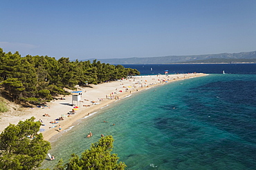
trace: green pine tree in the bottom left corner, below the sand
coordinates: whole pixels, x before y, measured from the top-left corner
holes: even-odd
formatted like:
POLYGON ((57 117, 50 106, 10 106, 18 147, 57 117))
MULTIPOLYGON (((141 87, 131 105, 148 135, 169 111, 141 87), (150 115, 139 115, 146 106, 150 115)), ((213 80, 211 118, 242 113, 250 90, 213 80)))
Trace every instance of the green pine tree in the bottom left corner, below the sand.
POLYGON ((35 169, 45 159, 51 144, 37 134, 41 123, 34 120, 10 124, 0 134, 0 169, 35 169))

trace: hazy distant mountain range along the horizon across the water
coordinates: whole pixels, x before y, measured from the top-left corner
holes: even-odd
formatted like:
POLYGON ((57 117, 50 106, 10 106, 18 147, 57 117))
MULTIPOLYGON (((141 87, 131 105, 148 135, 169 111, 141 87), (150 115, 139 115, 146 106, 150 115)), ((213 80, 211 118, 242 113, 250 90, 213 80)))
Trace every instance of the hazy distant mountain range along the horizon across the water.
MULTIPOLYGON (((93 61, 94 59, 89 59, 93 61)), ((256 63, 256 51, 192 56, 132 57, 125 59, 97 59, 101 63, 122 64, 173 64, 173 63, 256 63)))

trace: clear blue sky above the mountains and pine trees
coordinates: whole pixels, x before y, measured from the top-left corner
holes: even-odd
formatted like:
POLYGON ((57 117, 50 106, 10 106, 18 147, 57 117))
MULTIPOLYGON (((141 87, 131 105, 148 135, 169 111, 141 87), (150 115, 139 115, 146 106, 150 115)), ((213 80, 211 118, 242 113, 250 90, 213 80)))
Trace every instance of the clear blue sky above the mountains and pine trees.
POLYGON ((122 59, 256 50, 255 0, 1 0, 0 47, 122 59))

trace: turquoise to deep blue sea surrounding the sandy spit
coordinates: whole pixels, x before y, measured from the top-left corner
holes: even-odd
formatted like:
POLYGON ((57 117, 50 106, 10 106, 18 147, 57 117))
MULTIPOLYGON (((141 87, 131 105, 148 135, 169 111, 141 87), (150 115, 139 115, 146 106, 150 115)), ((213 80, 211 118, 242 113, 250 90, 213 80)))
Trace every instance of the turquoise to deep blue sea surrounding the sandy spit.
POLYGON ((141 75, 208 76, 131 94, 78 120, 50 140, 56 160, 42 168, 80 156, 104 134, 126 169, 256 169, 256 64, 124 66, 141 75))

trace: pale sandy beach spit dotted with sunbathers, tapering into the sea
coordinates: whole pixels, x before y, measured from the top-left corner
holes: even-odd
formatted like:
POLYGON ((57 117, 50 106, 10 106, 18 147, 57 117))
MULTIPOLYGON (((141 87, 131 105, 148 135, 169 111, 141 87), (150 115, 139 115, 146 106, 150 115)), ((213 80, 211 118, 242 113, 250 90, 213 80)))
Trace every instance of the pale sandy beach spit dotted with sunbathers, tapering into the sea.
MULTIPOLYGON (((54 138, 58 133, 64 133, 75 123, 76 120, 90 116, 97 109, 109 105, 115 100, 119 100, 130 94, 141 92, 156 85, 165 85, 173 81, 181 81, 185 78, 205 76, 206 74, 169 74, 154 76, 134 76, 119 81, 101 83, 99 85, 89 85, 89 87, 77 87, 76 91, 82 91, 80 102, 73 102, 77 107, 75 114, 68 114, 72 111, 72 96, 59 96, 58 100, 52 100, 46 103, 44 107, 22 108, 16 111, 9 111, 1 114, 0 132, 3 131, 10 123, 17 125, 19 120, 26 120, 32 116, 36 121, 42 121, 42 134, 45 140, 54 138), (45 114, 49 116, 45 116, 45 114), (58 118, 64 120, 56 120, 58 118), (56 121, 56 123, 54 123, 56 121), (58 126, 62 129, 59 131, 58 126)), ((70 90, 70 92, 72 92, 70 90)))

